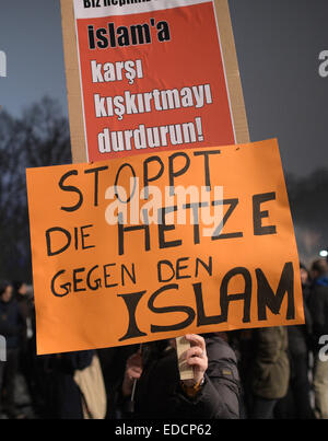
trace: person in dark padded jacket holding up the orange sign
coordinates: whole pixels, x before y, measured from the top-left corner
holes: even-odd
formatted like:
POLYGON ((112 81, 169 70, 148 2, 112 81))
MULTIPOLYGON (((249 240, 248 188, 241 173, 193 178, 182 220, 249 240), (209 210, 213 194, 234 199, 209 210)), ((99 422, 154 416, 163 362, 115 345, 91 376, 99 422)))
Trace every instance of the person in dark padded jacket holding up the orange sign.
POLYGON ((194 367, 194 380, 179 380, 172 340, 145 345, 143 356, 130 357, 122 394, 128 401, 133 395, 133 418, 239 418, 239 378, 232 348, 215 334, 190 334, 186 339, 191 347, 184 357, 194 367))

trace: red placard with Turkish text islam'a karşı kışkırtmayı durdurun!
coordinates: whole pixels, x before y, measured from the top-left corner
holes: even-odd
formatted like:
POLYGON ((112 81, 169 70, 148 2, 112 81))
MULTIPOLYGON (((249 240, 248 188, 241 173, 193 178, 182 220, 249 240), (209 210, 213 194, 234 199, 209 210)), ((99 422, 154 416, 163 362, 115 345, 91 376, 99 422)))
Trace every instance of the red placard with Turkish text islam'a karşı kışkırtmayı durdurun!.
POLYGON ((73 162, 248 142, 226 0, 61 10, 73 162))

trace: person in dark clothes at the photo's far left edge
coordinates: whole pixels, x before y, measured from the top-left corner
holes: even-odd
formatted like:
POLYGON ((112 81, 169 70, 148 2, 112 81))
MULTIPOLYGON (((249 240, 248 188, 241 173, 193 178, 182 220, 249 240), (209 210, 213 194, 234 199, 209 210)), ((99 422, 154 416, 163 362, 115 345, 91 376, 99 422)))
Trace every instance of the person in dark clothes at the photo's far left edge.
POLYGON ((19 367, 21 336, 24 332, 24 320, 20 314, 16 299, 12 295, 12 286, 8 281, 0 282, 0 335, 5 339, 5 358, 0 360, 0 413, 5 398, 5 414, 9 418, 24 418, 16 410, 14 387, 19 367))

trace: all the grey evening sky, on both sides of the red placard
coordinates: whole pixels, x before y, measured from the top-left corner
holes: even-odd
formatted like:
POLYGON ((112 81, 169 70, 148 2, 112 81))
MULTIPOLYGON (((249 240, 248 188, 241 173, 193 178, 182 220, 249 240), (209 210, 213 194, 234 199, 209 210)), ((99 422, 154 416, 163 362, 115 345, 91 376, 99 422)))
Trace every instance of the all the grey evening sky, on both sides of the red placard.
MULTIPOLYGON (((328 166, 327 0, 230 0, 253 141, 277 137, 285 172, 328 166)), ((0 0, 0 50, 8 78, 0 104, 11 114, 45 94, 67 114, 59 0, 0 0)))

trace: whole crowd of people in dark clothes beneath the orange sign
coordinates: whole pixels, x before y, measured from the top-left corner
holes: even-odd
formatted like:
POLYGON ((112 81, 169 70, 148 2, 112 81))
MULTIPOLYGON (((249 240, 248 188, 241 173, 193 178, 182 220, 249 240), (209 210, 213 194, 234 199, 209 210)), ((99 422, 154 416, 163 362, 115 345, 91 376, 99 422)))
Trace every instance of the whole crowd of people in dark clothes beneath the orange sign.
POLYGON ((33 294, 1 281, 0 418, 27 418, 21 376, 40 419, 327 419, 327 262, 301 265, 301 279, 304 325, 187 335, 184 381, 175 339, 36 356, 33 294))

